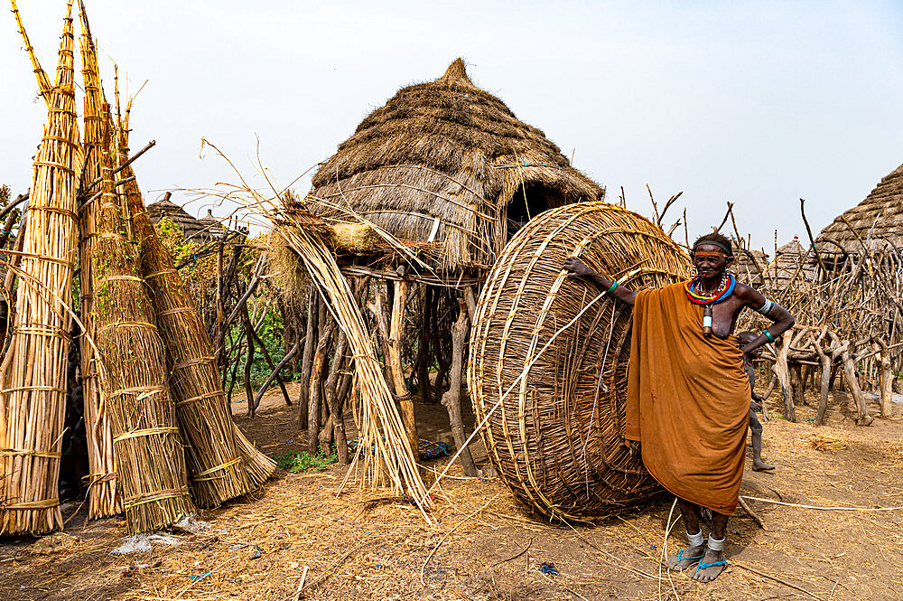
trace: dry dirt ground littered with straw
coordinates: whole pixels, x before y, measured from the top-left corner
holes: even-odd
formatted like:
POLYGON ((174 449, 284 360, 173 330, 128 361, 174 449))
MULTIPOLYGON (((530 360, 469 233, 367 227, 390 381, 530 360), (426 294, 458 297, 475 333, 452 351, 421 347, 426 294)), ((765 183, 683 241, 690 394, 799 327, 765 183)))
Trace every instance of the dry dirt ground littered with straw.
MULTIPOLYGON (((303 581, 307 599, 900 600, 903 511, 794 506, 903 506, 903 421, 856 427, 847 403, 835 395, 819 428, 812 406, 798 408, 797 424, 770 408, 764 455, 777 470, 754 473, 748 458, 741 494, 790 505, 749 501, 767 530, 739 511, 728 527, 730 566, 712 584, 660 568, 672 510, 664 496, 594 526, 550 524, 498 480, 462 478, 453 466, 433 490, 429 524, 404 502, 368 503, 378 492, 337 496, 344 470, 332 465, 280 470, 255 498, 203 512, 206 530, 175 531, 175 544, 131 555, 110 553, 125 537, 121 521, 86 523, 85 508, 70 503, 65 535, 0 542, 0 598, 289 601, 303 581)), ((300 449, 296 410, 280 396, 253 420, 244 403, 233 408, 266 453, 300 449)), ((416 409, 422 436, 451 441, 442 406, 416 409)), ((424 463, 428 483, 443 466, 424 463)), ((674 531, 670 552, 684 544, 680 521, 674 531)))

